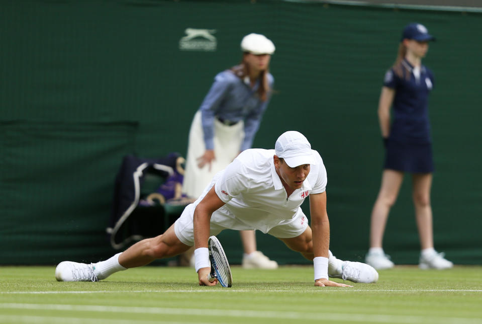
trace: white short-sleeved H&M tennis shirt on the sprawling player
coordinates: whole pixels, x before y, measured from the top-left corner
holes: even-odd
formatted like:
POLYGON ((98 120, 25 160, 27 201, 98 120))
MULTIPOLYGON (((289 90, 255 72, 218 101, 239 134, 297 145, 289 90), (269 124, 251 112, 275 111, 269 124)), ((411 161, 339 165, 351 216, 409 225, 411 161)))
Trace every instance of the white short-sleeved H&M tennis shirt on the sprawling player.
POLYGON ((326 189, 323 160, 316 150, 312 152, 316 165, 310 166, 302 187, 290 197, 276 174, 274 149, 252 148, 241 152, 213 179, 216 194, 226 204, 213 213, 211 220, 227 224, 230 218, 236 219, 264 233, 274 226, 289 223, 302 212, 300 206, 305 198, 326 189))

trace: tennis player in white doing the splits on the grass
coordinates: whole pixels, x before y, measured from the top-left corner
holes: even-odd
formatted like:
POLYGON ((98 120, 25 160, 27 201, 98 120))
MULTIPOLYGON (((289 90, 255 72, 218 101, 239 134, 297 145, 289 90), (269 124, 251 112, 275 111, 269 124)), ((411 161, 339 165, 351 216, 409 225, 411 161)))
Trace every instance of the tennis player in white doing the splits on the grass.
POLYGON ((335 258, 329 249, 330 224, 326 212, 326 170, 320 154, 306 137, 288 131, 274 150, 247 149, 219 172, 196 202, 162 235, 137 242, 123 253, 96 264, 61 262, 59 281, 98 281, 111 274, 144 266, 183 253, 195 245, 199 284, 210 282, 208 237, 223 229, 257 229, 271 234, 308 260, 313 260, 315 286, 348 285, 329 280, 376 282, 371 266, 335 258), (301 209, 310 196, 312 227, 301 209), (313 228, 313 229, 312 229, 313 228))

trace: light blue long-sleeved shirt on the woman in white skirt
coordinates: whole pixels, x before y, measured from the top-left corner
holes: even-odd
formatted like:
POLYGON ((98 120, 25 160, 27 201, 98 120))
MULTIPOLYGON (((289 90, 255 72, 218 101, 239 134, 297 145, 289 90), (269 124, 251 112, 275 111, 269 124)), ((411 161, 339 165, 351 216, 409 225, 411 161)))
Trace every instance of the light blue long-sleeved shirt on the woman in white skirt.
MULTIPOLYGON (((270 73, 268 73, 268 82, 272 89, 274 78, 270 73)), ((251 147, 271 98, 271 92, 269 92, 268 99, 261 101, 256 93, 258 87, 259 81, 251 88, 249 82, 246 84, 229 70, 216 75, 211 89, 199 108, 206 149, 214 149, 214 119, 216 117, 231 122, 244 120, 245 135, 240 150, 251 147)))

